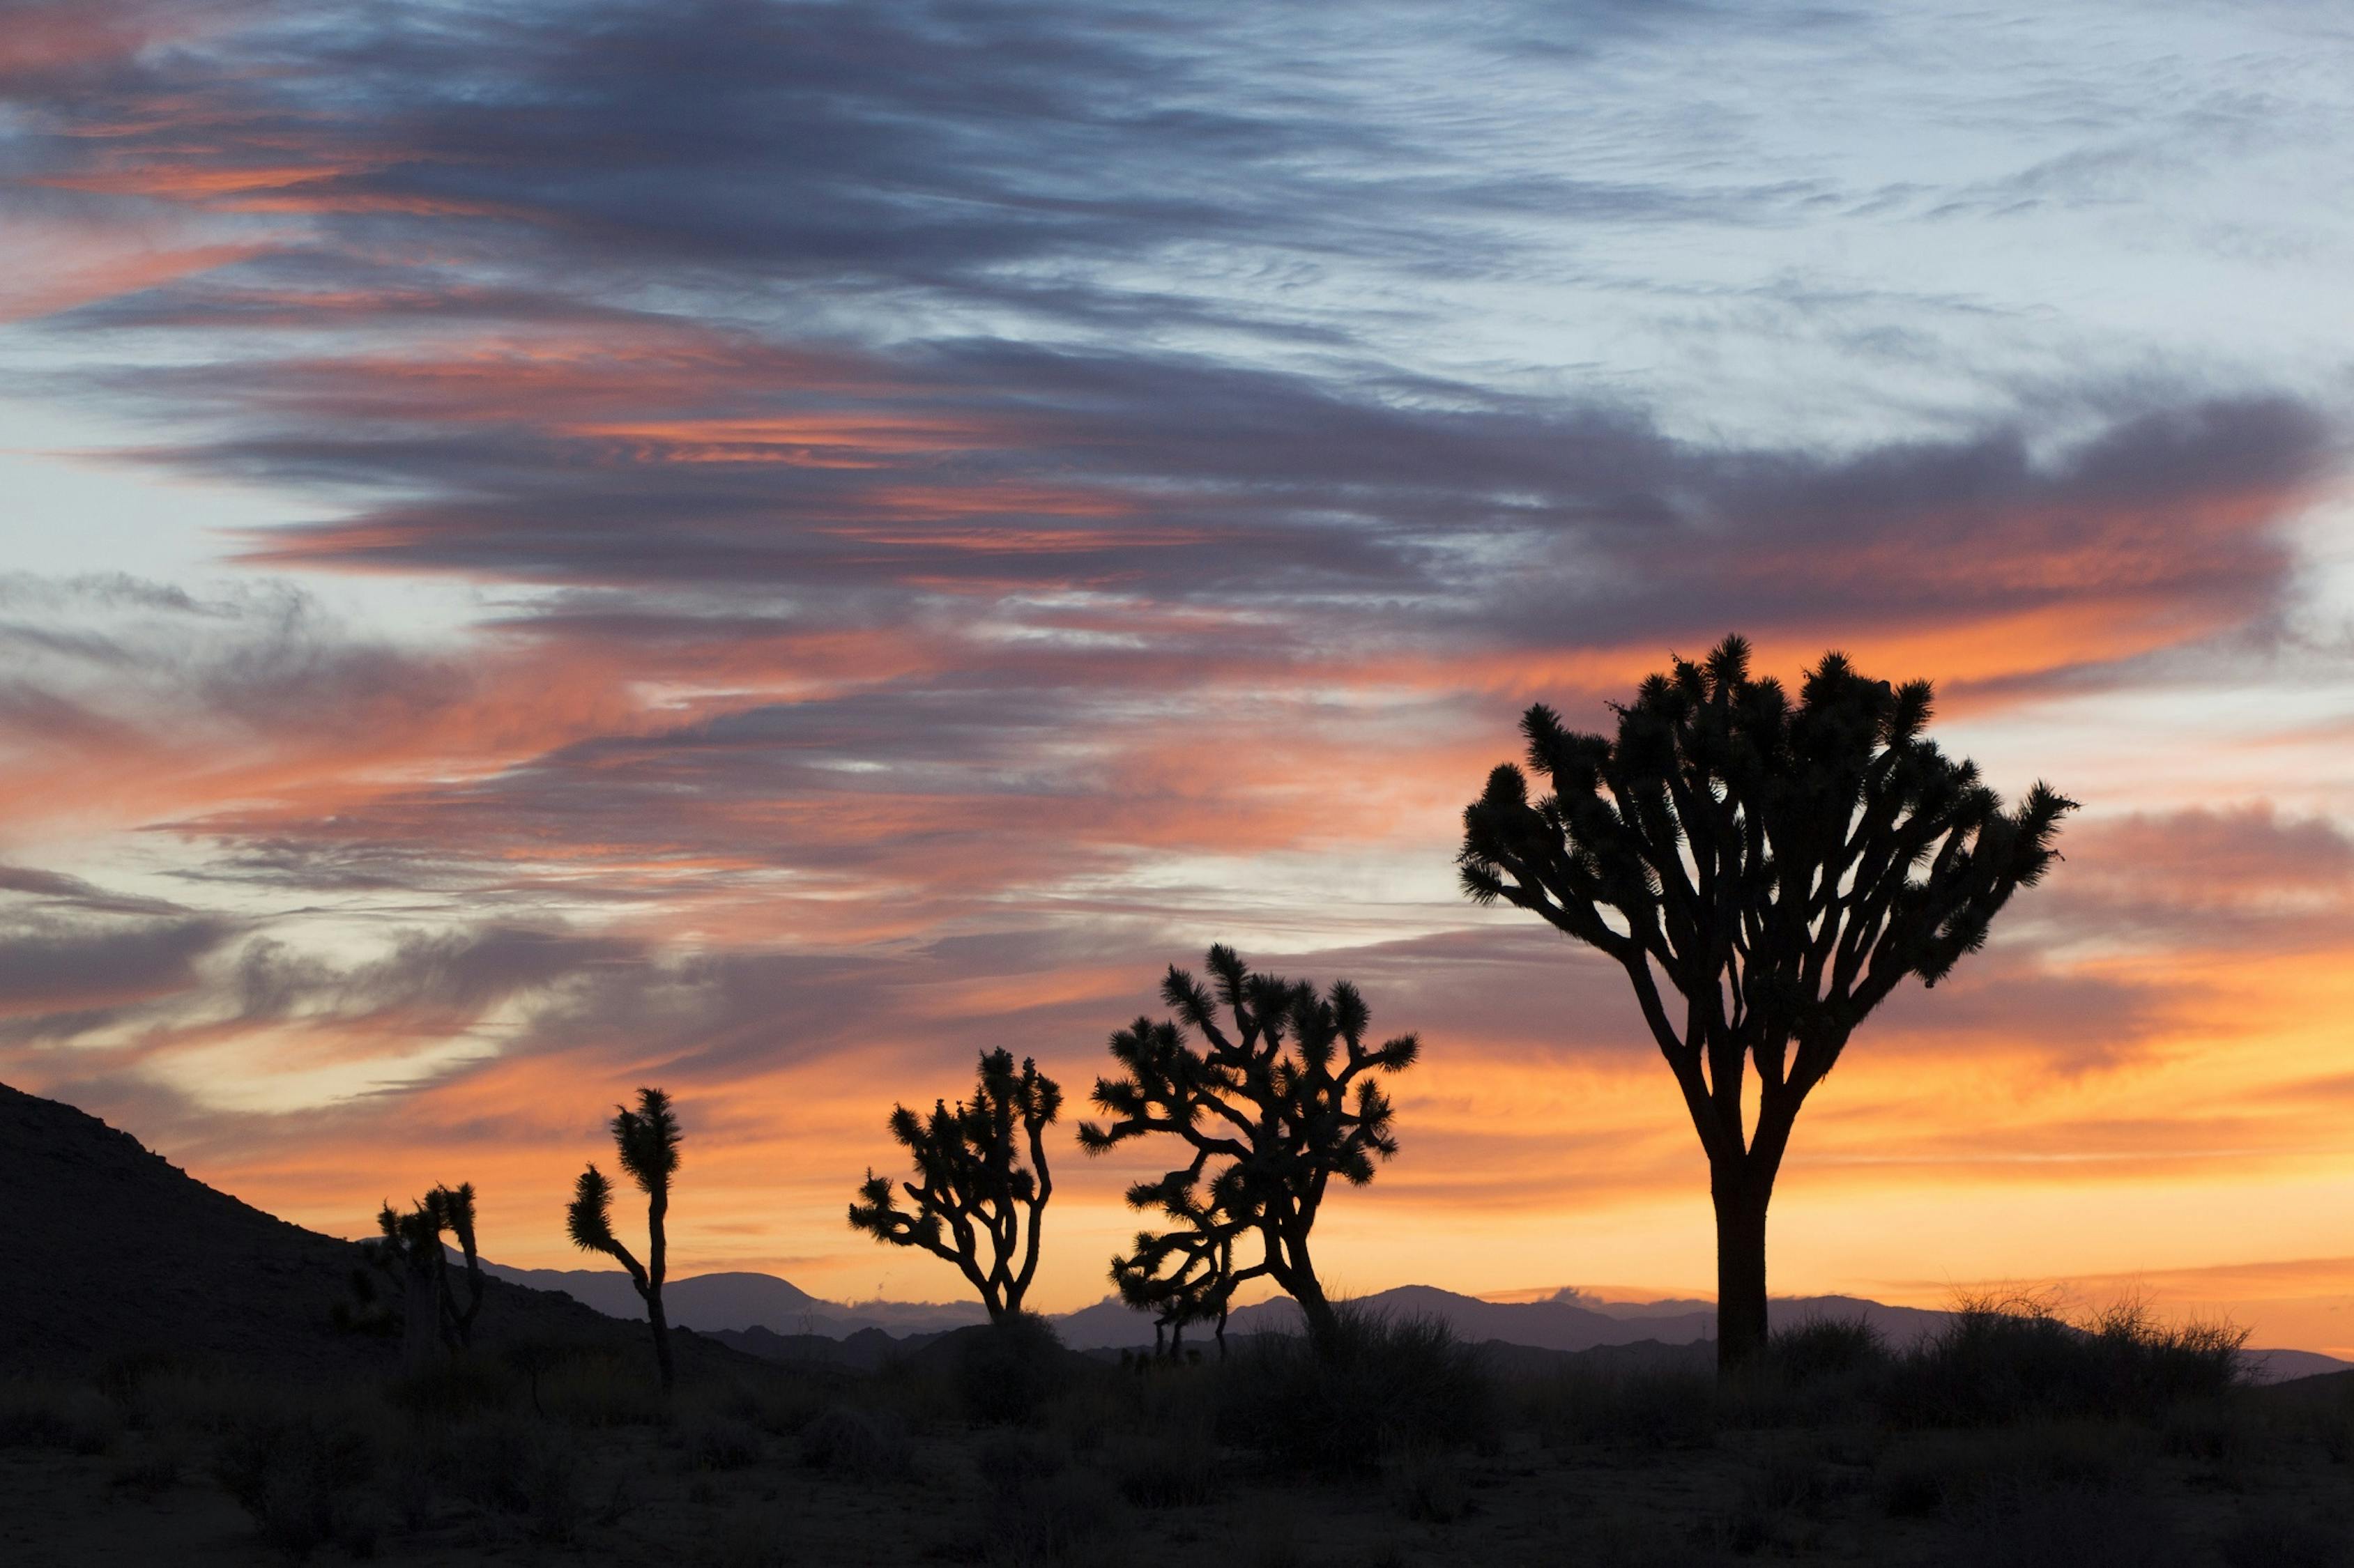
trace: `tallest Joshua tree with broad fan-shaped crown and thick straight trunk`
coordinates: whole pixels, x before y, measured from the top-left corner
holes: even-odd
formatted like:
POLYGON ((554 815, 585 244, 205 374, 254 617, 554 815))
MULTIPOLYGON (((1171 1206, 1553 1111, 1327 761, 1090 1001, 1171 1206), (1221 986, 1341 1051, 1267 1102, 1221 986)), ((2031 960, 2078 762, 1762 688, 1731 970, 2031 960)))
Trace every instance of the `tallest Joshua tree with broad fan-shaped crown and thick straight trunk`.
POLYGON ((1709 1158, 1730 1368, 1766 1342, 1766 1205, 1798 1107, 1897 982, 1935 984, 1984 944, 2076 803, 2036 784, 2006 810, 1921 735, 1926 680, 1869 680, 1836 652, 1794 706, 1725 638, 1615 711, 1603 737, 1528 709, 1551 793, 1530 800, 1499 765, 1457 864, 1481 904, 1535 911, 1627 970, 1709 1158))

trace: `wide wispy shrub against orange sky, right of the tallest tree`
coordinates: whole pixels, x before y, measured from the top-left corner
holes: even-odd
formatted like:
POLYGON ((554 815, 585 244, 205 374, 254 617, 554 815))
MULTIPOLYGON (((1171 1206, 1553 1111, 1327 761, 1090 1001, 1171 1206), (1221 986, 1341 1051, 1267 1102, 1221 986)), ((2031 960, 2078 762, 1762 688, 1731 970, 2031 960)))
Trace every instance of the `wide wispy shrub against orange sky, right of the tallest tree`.
POLYGON ((1963 1302, 1878 1384, 1886 1420, 1984 1427, 2022 1420, 2156 1420, 2243 1380, 2246 1333, 2168 1326, 2137 1304, 2069 1323, 2043 1302, 1963 1302))

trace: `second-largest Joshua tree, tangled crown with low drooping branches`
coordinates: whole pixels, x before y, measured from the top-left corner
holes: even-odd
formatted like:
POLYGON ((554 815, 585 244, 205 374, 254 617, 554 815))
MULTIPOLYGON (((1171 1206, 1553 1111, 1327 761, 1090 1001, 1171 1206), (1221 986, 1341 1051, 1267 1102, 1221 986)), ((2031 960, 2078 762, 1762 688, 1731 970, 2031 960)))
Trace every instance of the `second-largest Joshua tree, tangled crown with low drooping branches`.
POLYGON ((1121 1300, 1158 1314, 1156 1340, 1161 1326, 1182 1335, 1186 1323, 1212 1321, 1224 1349, 1233 1290, 1266 1276, 1299 1302, 1316 1351, 1330 1354, 1337 1316, 1309 1234, 1335 1175, 1363 1187, 1375 1158, 1398 1151, 1375 1076, 1412 1067, 1422 1043, 1401 1034, 1368 1048, 1370 1012, 1356 986, 1335 982, 1316 996, 1306 982, 1248 972, 1229 946, 1210 949, 1210 982, 1170 965, 1161 998, 1177 1019, 1139 1017, 1111 1036, 1128 1076, 1097 1078, 1095 1104, 1113 1121, 1078 1128, 1090 1154, 1149 1132, 1191 1149, 1177 1170, 1128 1189, 1130 1208, 1177 1224, 1139 1231, 1135 1250, 1111 1260, 1111 1278, 1121 1300), (1236 1243, 1248 1257, 1252 1241, 1257 1257, 1236 1267, 1236 1243))

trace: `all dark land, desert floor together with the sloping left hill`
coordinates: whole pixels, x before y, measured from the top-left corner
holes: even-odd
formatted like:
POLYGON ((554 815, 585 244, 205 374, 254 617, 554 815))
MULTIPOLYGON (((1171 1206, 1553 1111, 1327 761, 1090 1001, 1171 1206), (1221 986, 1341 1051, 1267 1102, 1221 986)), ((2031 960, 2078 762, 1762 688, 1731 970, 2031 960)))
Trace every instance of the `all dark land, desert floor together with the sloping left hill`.
POLYGON ((2354 1375, 1977 1304, 1890 1349, 1469 1347, 1351 1314, 1191 1363, 1040 1323, 770 1361, 497 1285, 403 1373, 358 1250, 0 1088, 0 1563, 2354 1568, 2354 1375))

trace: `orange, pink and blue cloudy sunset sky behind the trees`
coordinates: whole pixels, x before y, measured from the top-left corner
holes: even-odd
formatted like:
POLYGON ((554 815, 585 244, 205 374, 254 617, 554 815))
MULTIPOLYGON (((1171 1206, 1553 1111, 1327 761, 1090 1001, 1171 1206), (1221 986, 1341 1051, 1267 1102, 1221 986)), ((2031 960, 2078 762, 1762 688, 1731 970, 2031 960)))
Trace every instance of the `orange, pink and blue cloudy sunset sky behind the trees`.
POLYGON ((2349 278, 2326 5, 0 0, 0 1081, 532 1267, 659 1083, 673 1274, 946 1300, 890 1102, 1224 939, 1424 1041, 1335 1283, 1707 1290, 1452 852, 1740 631, 2083 803, 1773 1288, 2354 1356, 2349 278))

